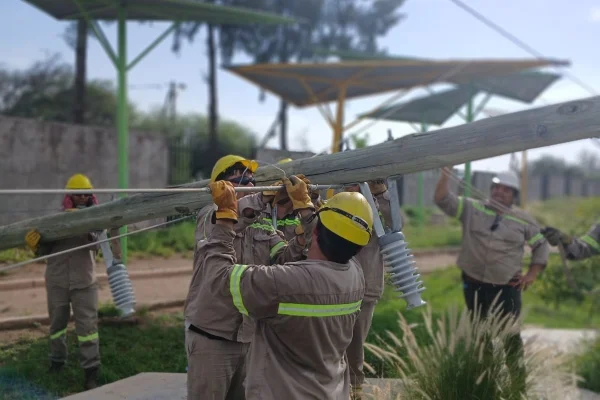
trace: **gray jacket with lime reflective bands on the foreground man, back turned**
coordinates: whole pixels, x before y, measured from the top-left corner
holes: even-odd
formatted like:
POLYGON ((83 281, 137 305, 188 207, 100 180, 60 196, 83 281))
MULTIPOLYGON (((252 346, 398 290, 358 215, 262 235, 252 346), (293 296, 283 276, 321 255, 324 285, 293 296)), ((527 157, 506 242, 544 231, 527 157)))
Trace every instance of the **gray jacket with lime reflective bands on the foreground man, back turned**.
POLYGON ((216 225, 198 261, 212 271, 212 295, 256 321, 246 399, 347 400, 345 351, 364 295, 360 267, 353 260, 236 264, 234 238, 216 225))

